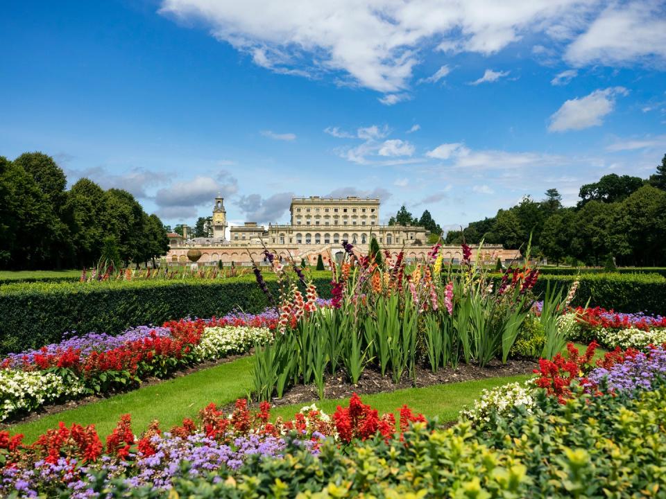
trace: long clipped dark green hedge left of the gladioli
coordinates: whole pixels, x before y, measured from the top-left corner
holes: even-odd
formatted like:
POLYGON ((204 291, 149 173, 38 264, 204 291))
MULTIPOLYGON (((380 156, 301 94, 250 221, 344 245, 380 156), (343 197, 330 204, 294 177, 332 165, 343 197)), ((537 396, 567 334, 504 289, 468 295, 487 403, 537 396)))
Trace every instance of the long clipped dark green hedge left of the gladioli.
MULTIPOLYGON (((330 297, 330 273, 312 272, 322 297, 330 297)), ((267 274, 268 288, 277 283, 267 274)), ((269 301, 253 275, 221 281, 107 281, 0 286, 0 353, 37 349, 67 331, 117 334, 133 326, 182 317, 221 316, 239 308, 257 313, 269 301)))

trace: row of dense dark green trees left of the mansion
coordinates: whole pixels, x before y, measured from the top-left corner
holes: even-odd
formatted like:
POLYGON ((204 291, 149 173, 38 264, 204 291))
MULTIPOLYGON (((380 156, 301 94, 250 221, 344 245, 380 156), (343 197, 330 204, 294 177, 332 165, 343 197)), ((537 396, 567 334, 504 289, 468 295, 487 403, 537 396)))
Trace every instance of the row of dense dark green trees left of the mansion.
POLYGON ((155 263, 168 250, 162 220, 128 191, 105 191, 87 178, 67 190, 52 157, 0 156, 0 268, 90 267, 103 253, 125 265, 155 263))

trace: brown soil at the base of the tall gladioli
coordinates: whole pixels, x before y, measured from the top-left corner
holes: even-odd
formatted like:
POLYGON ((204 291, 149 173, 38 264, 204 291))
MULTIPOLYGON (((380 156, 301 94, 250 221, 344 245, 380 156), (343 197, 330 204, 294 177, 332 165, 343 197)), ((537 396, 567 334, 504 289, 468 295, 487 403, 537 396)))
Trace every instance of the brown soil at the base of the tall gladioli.
MULTIPOLYGON (((458 383, 460 381, 481 380, 486 378, 497 378, 499 376, 515 376, 518 374, 531 374, 538 364, 533 360, 514 359, 502 364, 493 360, 486 367, 468 365, 461 363, 457 369, 446 367, 439 369, 436 373, 431 369, 416 367, 416 383, 408 373, 404 373, 400 383, 393 383, 391 373, 382 376, 379 371, 366 367, 356 385, 350 383, 344 374, 325 376, 325 399, 348 399, 352 394, 377 394, 393 392, 398 389, 412 387, 427 387, 431 385, 442 385, 444 383, 458 383)), ((296 385, 291 387, 281 399, 274 398, 271 403, 275 407, 300 403, 311 403, 318 401, 319 394, 316 385, 296 385)), ((231 412, 233 404, 225 406, 225 410, 231 412)))

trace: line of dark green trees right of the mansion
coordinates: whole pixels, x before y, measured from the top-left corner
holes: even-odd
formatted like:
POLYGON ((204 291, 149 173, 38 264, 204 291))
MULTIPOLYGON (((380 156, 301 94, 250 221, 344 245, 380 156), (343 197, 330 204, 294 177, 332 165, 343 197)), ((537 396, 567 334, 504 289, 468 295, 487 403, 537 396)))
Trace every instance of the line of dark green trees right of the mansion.
POLYGON ((531 234, 532 254, 552 263, 666 265, 666 155, 647 179, 604 175, 581 186, 579 198, 575 207, 563 207, 557 189, 540 201, 525 196, 493 218, 447 232, 445 242, 484 240, 524 250, 531 234))

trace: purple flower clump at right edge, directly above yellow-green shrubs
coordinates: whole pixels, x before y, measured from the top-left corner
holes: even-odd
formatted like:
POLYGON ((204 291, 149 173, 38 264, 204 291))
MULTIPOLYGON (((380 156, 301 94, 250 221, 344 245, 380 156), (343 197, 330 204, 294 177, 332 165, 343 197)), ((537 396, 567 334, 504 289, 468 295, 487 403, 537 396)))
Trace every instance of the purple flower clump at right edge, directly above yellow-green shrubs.
POLYGON ((640 352, 635 357, 613 365, 610 369, 597 367, 588 379, 595 385, 606 383, 614 392, 635 392, 637 389, 651 389, 653 381, 666 376, 666 350, 664 347, 640 352))

